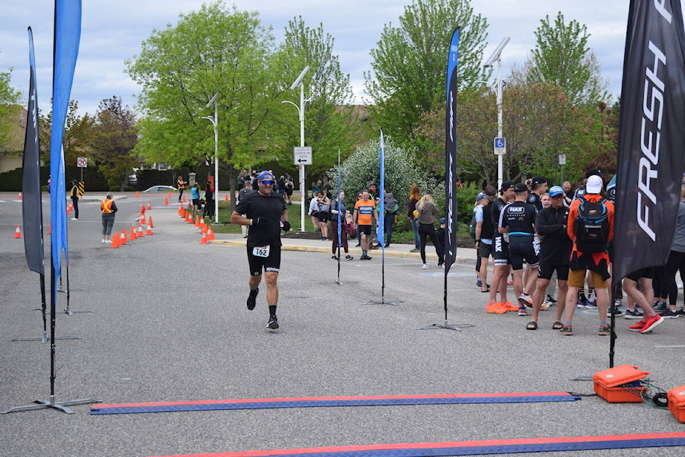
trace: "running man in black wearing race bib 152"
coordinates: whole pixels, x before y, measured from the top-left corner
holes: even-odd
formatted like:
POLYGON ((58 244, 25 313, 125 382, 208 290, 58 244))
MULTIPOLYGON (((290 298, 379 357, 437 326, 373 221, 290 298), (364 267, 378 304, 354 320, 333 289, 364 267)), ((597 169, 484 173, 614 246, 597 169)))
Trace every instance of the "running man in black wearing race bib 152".
POLYGON ((248 232, 248 263, 250 265, 250 296, 248 309, 255 308, 262 269, 265 272, 266 302, 269 305, 267 328, 278 328, 278 271, 280 271, 280 230, 290 230, 288 210, 283 196, 273 192, 273 174, 262 171, 258 176, 259 190, 245 194, 230 215, 231 224, 250 226, 248 232), (243 216, 243 214, 245 216, 243 216))

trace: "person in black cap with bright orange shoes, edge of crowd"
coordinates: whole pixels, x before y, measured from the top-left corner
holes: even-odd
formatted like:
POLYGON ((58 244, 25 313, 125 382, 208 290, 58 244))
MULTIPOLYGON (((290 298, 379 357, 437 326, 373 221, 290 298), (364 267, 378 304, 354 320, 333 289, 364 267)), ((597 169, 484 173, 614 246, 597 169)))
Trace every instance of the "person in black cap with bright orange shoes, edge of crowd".
POLYGON ((499 214, 504 206, 514 199, 514 182, 503 181, 502 188, 499 189, 499 199, 492 203, 490 219, 494 227, 494 238, 492 240, 492 257, 494 258, 494 268, 492 269, 492 283, 490 283, 490 296, 485 311, 488 313, 506 313, 507 311, 518 311, 519 307, 507 300, 507 277, 509 277, 509 246, 503 233, 497 230, 499 224, 499 214), (499 301, 497 301, 499 292, 499 301))

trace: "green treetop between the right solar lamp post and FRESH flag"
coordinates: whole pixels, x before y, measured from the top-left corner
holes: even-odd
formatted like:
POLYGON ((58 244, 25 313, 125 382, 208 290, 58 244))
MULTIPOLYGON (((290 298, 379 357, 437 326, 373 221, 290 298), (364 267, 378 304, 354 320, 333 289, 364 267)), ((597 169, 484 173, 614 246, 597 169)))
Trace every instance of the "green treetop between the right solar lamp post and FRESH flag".
POLYGON ((558 84, 574 105, 607 101, 609 84, 587 46, 587 26, 578 21, 566 24, 559 11, 554 24, 545 16, 534 33, 537 44, 525 66, 529 82, 558 84))

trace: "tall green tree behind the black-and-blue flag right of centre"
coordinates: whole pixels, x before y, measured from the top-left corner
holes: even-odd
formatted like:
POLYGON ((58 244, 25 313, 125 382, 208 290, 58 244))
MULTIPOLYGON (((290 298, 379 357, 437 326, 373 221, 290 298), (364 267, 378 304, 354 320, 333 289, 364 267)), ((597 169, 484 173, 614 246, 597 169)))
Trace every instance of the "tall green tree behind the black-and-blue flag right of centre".
POLYGON ((371 51, 372 72, 365 74, 365 88, 372 117, 400 146, 413 149, 421 115, 445 105, 447 56, 457 26, 457 79, 460 89, 470 89, 489 76, 482 66, 487 20, 473 13, 470 0, 412 1, 400 26, 386 25, 371 51))

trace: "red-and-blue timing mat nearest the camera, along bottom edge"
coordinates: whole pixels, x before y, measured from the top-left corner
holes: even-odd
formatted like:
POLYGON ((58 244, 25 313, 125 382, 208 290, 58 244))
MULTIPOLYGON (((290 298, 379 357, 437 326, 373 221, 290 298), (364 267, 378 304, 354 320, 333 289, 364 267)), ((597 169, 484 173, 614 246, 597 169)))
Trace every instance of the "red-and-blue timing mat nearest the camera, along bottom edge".
MULTIPOLYGON (((489 441, 445 441, 442 443, 376 444, 327 448, 274 449, 183 454, 183 457, 423 457, 477 456, 483 454, 591 451, 597 449, 656 448, 685 446, 685 432, 630 435, 523 438, 489 441)), ((181 457, 181 456, 157 456, 181 457)))

